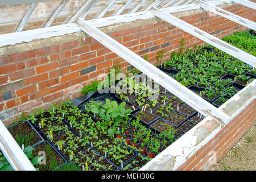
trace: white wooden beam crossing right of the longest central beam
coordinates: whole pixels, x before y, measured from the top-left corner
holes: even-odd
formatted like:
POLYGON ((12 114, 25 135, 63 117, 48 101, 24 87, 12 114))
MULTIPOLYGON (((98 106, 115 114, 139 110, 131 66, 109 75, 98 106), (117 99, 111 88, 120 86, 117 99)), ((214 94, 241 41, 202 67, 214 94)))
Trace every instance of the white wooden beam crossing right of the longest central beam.
POLYGON ((253 55, 250 55, 249 53, 242 51, 241 49, 238 49, 229 43, 224 42, 223 40, 220 40, 207 32, 200 30, 197 27, 192 26, 191 24, 184 22, 183 20, 176 18, 173 15, 167 14, 162 10, 159 10, 155 7, 152 8, 152 11, 155 13, 156 16, 159 18, 165 20, 168 23, 173 24, 174 26, 188 32, 189 34, 196 36, 197 38, 204 40, 204 42, 207 42, 208 44, 211 44, 212 46, 221 49, 221 51, 224 51, 226 53, 229 53, 230 55, 236 57, 237 59, 240 59, 241 61, 256 67, 256 58, 253 55))

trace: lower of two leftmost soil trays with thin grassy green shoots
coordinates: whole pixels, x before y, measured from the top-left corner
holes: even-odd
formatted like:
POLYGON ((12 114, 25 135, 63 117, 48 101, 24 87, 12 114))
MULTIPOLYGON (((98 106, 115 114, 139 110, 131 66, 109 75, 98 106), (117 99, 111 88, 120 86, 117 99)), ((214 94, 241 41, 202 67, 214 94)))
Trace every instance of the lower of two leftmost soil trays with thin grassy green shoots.
POLYGON ((34 156, 38 156, 39 151, 46 152, 46 164, 38 164, 35 166, 36 168, 39 168, 40 171, 52 171, 53 169, 65 164, 65 161, 60 157, 59 154, 57 154, 57 152, 52 149, 48 143, 40 143, 34 148, 34 156))

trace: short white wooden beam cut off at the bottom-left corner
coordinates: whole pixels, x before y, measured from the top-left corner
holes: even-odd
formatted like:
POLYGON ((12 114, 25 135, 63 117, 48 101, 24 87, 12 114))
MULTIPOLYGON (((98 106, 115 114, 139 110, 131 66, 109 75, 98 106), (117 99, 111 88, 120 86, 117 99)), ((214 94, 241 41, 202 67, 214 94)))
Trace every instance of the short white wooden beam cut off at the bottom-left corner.
POLYGON ((36 171, 18 143, 0 120, 0 149, 15 171, 36 171))

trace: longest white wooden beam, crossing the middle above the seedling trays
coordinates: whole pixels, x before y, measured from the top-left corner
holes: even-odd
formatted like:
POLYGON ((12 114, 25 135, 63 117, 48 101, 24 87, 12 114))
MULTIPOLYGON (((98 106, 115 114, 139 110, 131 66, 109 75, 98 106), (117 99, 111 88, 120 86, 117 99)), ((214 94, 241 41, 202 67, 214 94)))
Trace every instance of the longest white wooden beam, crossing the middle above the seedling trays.
POLYGON ((106 35, 98 28, 85 22, 85 20, 82 18, 79 18, 77 23, 79 26, 81 26, 81 30, 86 32, 86 34, 92 36, 92 38, 96 39, 105 47, 112 50, 118 56, 122 57, 122 59, 126 60, 141 72, 145 73, 152 80, 158 82, 164 88, 169 90, 175 96, 179 97, 200 113, 203 113, 205 116, 209 115, 222 123, 225 123, 225 121, 228 119, 228 115, 217 110, 217 108, 211 105, 209 102, 205 101, 200 96, 197 96, 197 94, 181 85, 166 73, 160 71, 160 69, 156 68, 154 65, 148 63, 148 61, 132 52, 129 48, 126 48, 121 43, 118 43, 113 38, 110 38, 110 36, 106 35))

